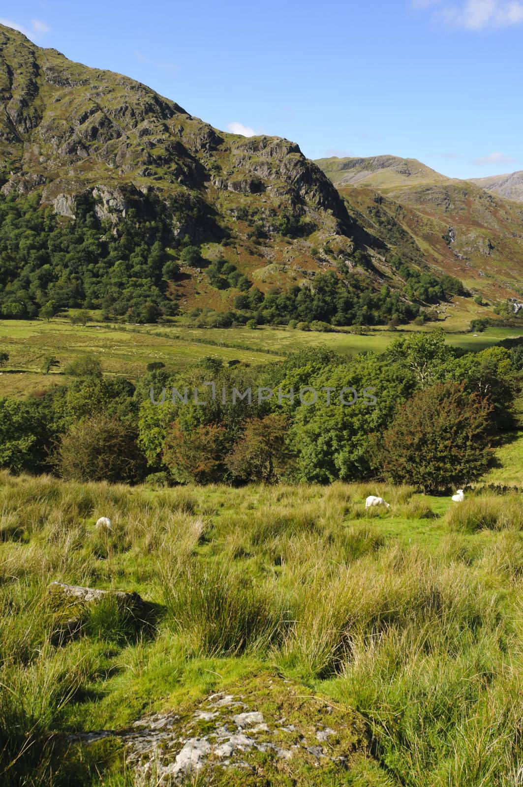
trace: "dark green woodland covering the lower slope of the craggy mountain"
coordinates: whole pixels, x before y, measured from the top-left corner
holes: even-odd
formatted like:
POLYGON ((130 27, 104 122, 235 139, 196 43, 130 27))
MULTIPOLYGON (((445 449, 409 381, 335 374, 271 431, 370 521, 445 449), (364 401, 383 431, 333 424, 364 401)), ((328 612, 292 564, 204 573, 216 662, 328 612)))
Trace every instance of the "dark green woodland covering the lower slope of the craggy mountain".
MULTIPOLYGON (((337 271, 318 274, 311 286, 274 288, 262 293, 224 257, 212 264, 198 246, 169 237, 160 213, 130 209, 114 227, 98 220, 95 202, 78 205, 76 219, 56 216, 40 206, 41 194, 25 198, 0 195, 0 316, 25 319, 60 309, 102 309, 107 319, 154 323, 179 312, 176 281, 180 265, 203 268, 219 290, 235 289, 234 310, 217 314, 212 327, 290 320, 320 320, 332 325, 406 323, 424 319, 426 309, 462 292, 451 276, 419 271, 391 257, 404 280, 402 297, 387 285, 376 290, 369 279, 342 260, 337 271), (173 248, 171 248, 173 246, 173 248)), ((295 235, 289 220, 277 231, 295 235)), ((327 249, 328 252, 328 249, 327 249)), ((354 260, 365 267, 361 252, 354 260)))

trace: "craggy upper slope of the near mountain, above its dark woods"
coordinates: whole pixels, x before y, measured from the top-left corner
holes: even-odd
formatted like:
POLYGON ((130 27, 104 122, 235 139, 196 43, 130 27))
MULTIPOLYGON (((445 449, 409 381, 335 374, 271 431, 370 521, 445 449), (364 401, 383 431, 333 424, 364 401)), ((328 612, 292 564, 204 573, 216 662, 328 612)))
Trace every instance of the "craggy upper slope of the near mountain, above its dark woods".
MULTIPOLYGON (((133 79, 39 49, 2 25, 0 104, 2 191, 43 187, 43 201, 63 216, 74 216, 79 194, 92 194, 114 221, 140 194, 165 205, 188 194, 219 223, 224 194, 263 195, 313 215, 328 233, 350 231, 336 189, 295 143, 224 134, 133 79)), ((177 223, 179 232, 195 229, 177 223)))

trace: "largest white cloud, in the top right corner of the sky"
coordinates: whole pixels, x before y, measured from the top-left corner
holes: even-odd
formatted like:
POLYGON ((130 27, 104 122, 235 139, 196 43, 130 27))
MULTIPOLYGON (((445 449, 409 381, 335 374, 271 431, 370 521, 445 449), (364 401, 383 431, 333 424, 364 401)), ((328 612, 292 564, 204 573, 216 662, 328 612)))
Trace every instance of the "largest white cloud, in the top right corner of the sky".
POLYGON ((412 0, 412 6, 415 9, 439 6, 436 16, 466 30, 507 28, 523 22, 523 2, 520 0, 466 0, 459 6, 442 0, 412 0))

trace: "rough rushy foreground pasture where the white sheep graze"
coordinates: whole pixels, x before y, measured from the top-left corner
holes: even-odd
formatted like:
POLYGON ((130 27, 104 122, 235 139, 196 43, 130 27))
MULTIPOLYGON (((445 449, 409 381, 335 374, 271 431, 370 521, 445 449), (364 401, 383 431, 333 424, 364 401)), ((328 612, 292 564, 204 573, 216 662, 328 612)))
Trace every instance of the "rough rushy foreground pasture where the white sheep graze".
POLYGON ((133 785, 117 742, 66 733, 119 730, 247 681, 255 693, 266 674, 358 719, 343 780, 291 764, 269 778, 261 758, 254 776, 202 783, 519 783, 521 495, 453 506, 380 485, 0 481, 2 784, 133 785), (366 513, 370 493, 391 508, 366 513), (101 515, 112 530, 97 530, 101 515), (57 637, 70 610, 54 580, 134 590, 154 622, 100 602, 79 636, 57 637))

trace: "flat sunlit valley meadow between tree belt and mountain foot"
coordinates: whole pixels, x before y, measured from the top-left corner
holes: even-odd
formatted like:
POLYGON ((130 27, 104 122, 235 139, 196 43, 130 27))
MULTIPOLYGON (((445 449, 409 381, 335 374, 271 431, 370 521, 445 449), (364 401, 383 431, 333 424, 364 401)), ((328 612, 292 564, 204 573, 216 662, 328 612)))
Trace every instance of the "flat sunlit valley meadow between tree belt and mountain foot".
MULTIPOLYGON (((425 328, 400 327, 398 331, 391 332, 376 327, 358 336, 344 331, 321 333, 273 326, 250 331, 244 327, 192 328, 180 323, 113 327, 106 323, 93 323, 79 327, 72 326, 64 318, 54 318, 49 322, 2 320, 0 349, 9 354, 9 363, 0 373, 0 395, 24 397, 53 385, 67 384, 70 378, 63 369, 70 361, 87 353, 99 358, 104 374, 135 379, 153 361, 161 361, 176 371, 206 356, 221 359, 224 363, 240 360, 257 366, 281 360, 286 353, 311 347, 325 347, 346 356, 365 350, 383 353, 393 338, 421 330, 425 328), (57 357, 61 365, 45 375, 42 365, 49 355, 57 357)), ((517 335, 515 329, 491 327, 476 337, 466 333, 447 334, 447 343, 453 347, 481 350, 497 344, 502 338, 517 335)))

